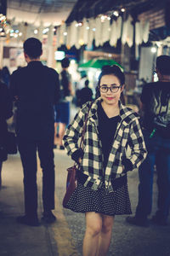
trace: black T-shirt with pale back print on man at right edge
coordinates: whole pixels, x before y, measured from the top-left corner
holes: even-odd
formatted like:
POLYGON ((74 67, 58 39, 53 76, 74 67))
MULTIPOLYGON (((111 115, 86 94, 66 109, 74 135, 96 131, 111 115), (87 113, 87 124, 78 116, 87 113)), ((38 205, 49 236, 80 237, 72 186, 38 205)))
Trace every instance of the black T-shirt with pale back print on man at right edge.
POLYGON ((144 128, 150 132, 156 128, 159 136, 170 138, 170 82, 145 84, 140 99, 144 128))

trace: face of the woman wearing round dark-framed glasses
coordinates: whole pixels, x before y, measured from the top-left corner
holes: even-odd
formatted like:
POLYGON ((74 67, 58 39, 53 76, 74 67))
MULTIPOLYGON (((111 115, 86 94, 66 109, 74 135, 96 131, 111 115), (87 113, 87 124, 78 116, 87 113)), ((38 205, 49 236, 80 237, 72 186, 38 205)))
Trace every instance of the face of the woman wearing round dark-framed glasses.
POLYGON ((104 75, 99 84, 101 98, 107 105, 117 105, 123 90, 123 84, 112 74, 104 75), (121 87, 122 86, 122 87, 121 87), (108 90, 108 88, 111 88, 108 90), (111 91, 112 90, 112 91, 111 91))

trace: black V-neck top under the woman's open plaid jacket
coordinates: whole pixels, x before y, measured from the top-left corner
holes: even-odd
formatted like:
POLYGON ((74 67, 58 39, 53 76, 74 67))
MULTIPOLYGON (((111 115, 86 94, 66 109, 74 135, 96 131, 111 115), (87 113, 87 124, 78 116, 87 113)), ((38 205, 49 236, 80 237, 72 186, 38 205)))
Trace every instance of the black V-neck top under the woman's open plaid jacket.
POLYGON ((102 143, 102 152, 104 154, 104 168, 107 166, 109 154, 111 153, 111 147, 116 133, 117 123, 121 120, 119 115, 108 118, 104 109, 99 103, 98 108, 99 116, 99 139, 102 143))

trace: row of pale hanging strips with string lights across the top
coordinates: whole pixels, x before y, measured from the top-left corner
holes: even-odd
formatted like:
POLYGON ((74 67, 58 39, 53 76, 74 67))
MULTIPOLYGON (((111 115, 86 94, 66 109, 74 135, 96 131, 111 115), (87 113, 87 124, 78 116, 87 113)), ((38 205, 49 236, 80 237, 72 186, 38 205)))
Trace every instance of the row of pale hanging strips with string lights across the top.
POLYGON ((35 27, 32 24, 21 22, 18 26, 8 24, 8 21, 4 15, 0 16, 0 21, 5 26, 5 34, 8 38, 19 38, 25 40, 28 37, 35 37, 42 40, 42 37, 56 35, 57 47, 65 44, 68 49, 73 45, 79 49, 83 44, 87 44, 88 48, 91 47, 93 41, 98 47, 109 41, 111 46, 116 46, 117 40, 121 38, 122 44, 128 44, 129 47, 133 45, 133 30, 135 30, 135 43, 141 44, 147 42, 149 35, 149 22, 144 26, 138 22, 133 26, 133 18, 131 15, 125 15, 126 20, 123 19, 123 14, 126 9, 120 8, 111 10, 105 14, 100 14, 95 18, 72 21, 71 24, 62 22, 60 26, 50 28, 44 27, 41 23, 39 27, 35 27), (142 36, 143 34, 143 36, 142 36))

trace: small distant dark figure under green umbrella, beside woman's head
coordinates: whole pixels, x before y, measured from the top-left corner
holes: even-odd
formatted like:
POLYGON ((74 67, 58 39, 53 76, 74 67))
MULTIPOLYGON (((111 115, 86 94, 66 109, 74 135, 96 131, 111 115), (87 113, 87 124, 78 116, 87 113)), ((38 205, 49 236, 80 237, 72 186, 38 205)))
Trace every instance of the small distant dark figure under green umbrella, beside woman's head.
POLYGON ((88 87, 89 80, 86 79, 84 83, 84 88, 80 90, 79 98, 80 98, 80 106, 82 106, 86 102, 91 102, 93 100, 93 90, 88 87))

